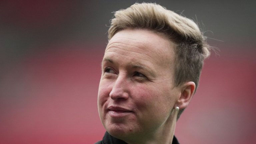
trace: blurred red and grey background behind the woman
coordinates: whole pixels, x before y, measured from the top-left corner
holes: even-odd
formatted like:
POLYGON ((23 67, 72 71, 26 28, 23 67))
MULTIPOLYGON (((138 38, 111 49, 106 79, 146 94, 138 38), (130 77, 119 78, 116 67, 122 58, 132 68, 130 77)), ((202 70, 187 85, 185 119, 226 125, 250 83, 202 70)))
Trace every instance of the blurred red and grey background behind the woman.
MULTIPOLYGON (((101 140, 105 129, 98 116, 97 91, 107 43, 105 25, 112 11, 134 2, 0 2, 0 143, 101 140)), ((256 143, 254 2, 234 3, 230 13, 225 13, 228 2, 218 7, 218 1, 199 1, 194 3, 197 9, 185 1, 157 3, 177 12, 185 9, 187 17, 196 14, 205 30, 214 31, 210 37, 223 41, 209 39, 220 52, 205 61, 197 93, 177 122, 178 140, 256 143), (238 7, 247 10, 236 13, 238 7), (253 20, 237 18, 243 14, 253 20)))

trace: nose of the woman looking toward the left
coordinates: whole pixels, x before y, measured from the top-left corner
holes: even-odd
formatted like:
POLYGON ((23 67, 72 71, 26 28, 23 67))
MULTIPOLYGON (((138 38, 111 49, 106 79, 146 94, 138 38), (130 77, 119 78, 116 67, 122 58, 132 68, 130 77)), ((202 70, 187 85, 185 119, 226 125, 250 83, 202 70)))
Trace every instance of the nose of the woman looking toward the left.
POLYGON ((113 100, 126 100, 129 98, 129 84, 125 76, 119 75, 113 84, 109 96, 113 100))

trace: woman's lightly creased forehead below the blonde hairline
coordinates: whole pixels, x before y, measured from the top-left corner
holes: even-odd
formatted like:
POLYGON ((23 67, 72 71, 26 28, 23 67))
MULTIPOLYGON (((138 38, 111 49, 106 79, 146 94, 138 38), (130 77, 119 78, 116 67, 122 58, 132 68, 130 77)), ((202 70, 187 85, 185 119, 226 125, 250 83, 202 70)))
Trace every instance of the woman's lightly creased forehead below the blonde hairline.
POLYGON ((117 52, 141 59, 170 63, 174 61, 174 44, 166 37, 145 29, 125 29, 109 41, 105 55, 117 52))

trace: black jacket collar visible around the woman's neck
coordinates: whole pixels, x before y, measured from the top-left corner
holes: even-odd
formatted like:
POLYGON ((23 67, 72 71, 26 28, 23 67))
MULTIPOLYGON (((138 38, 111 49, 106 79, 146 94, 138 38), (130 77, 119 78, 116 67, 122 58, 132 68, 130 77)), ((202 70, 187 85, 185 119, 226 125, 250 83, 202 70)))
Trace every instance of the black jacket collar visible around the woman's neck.
MULTIPOLYGON (((103 140, 98 141, 95 144, 127 144, 127 143, 120 139, 114 138, 108 132, 106 132, 103 137, 103 140)), ((172 144, 179 144, 175 136, 173 137, 172 144)))

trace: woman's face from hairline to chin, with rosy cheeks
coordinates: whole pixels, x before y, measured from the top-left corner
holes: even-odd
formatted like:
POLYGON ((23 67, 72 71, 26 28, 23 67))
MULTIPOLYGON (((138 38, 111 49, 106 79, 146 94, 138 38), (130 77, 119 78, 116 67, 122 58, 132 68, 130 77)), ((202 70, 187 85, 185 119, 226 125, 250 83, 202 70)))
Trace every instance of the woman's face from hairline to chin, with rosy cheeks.
POLYGON ((119 139, 148 138, 170 128, 179 90, 173 86, 174 45, 148 30, 125 29, 109 41, 102 61, 98 110, 119 139))

